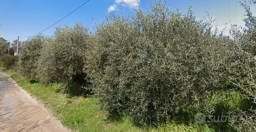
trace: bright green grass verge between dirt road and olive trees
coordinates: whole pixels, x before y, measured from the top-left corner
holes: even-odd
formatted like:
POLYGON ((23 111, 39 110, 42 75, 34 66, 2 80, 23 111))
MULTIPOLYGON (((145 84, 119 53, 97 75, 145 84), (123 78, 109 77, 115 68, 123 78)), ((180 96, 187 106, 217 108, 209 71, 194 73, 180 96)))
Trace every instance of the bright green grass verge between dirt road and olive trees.
MULTIPOLYGON (((68 96, 61 93, 61 84, 42 84, 26 79, 13 70, 3 69, 9 74, 22 89, 28 91, 47 107, 61 123, 73 130, 81 132, 212 132, 221 130, 216 124, 203 123, 198 125, 193 121, 193 115, 181 115, 175 117, 165 125, 158 127, 137 126, 123 114, 122 116, 109 117, 110 114, 100 109, 95 97, 84 98, 82 96, 68 96), (187 119, 188 118, 188 119, 187 119), (188 120, 188 121, 184 121, 188 120)), ((240 96, 235 95, 235 101, 229 102, 232 107, 239 107, 240 96)), ((217 102, 216 102, 217 104, 217 102)))

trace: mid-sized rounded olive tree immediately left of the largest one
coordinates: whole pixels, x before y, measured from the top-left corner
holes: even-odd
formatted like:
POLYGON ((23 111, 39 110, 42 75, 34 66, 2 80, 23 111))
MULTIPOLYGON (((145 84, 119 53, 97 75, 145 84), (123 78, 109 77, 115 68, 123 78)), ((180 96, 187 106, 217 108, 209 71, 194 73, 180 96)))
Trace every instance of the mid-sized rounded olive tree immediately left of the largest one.
POLYGON ((87 50, 88 29, 77 23, 74 27, 57 27, 54 36, 43 43, 38 60, 37 76, 41 82, 61 82, 65 91, 79 94, 86 82, 83 72, 84 54, 87 50))

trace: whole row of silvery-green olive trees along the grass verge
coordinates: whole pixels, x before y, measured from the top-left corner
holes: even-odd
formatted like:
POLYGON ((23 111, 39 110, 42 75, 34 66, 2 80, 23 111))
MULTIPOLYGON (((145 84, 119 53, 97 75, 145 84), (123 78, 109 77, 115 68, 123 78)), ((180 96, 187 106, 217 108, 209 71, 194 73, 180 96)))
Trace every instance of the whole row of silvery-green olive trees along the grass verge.
POLYGON ((69 84, 90 87, 102 109, 127 112, 140 124, 165 122, 185 109, 210 114, 213 93, 240 91, 255 73, 253 54, 211 29, 211 19, 196 20, 191 8, 182 14, 158 2, 147 12, 111 14, 93 34, 76 24, 30 39, 20 72, 65 83, 67 92, 84 91, 69 84))

